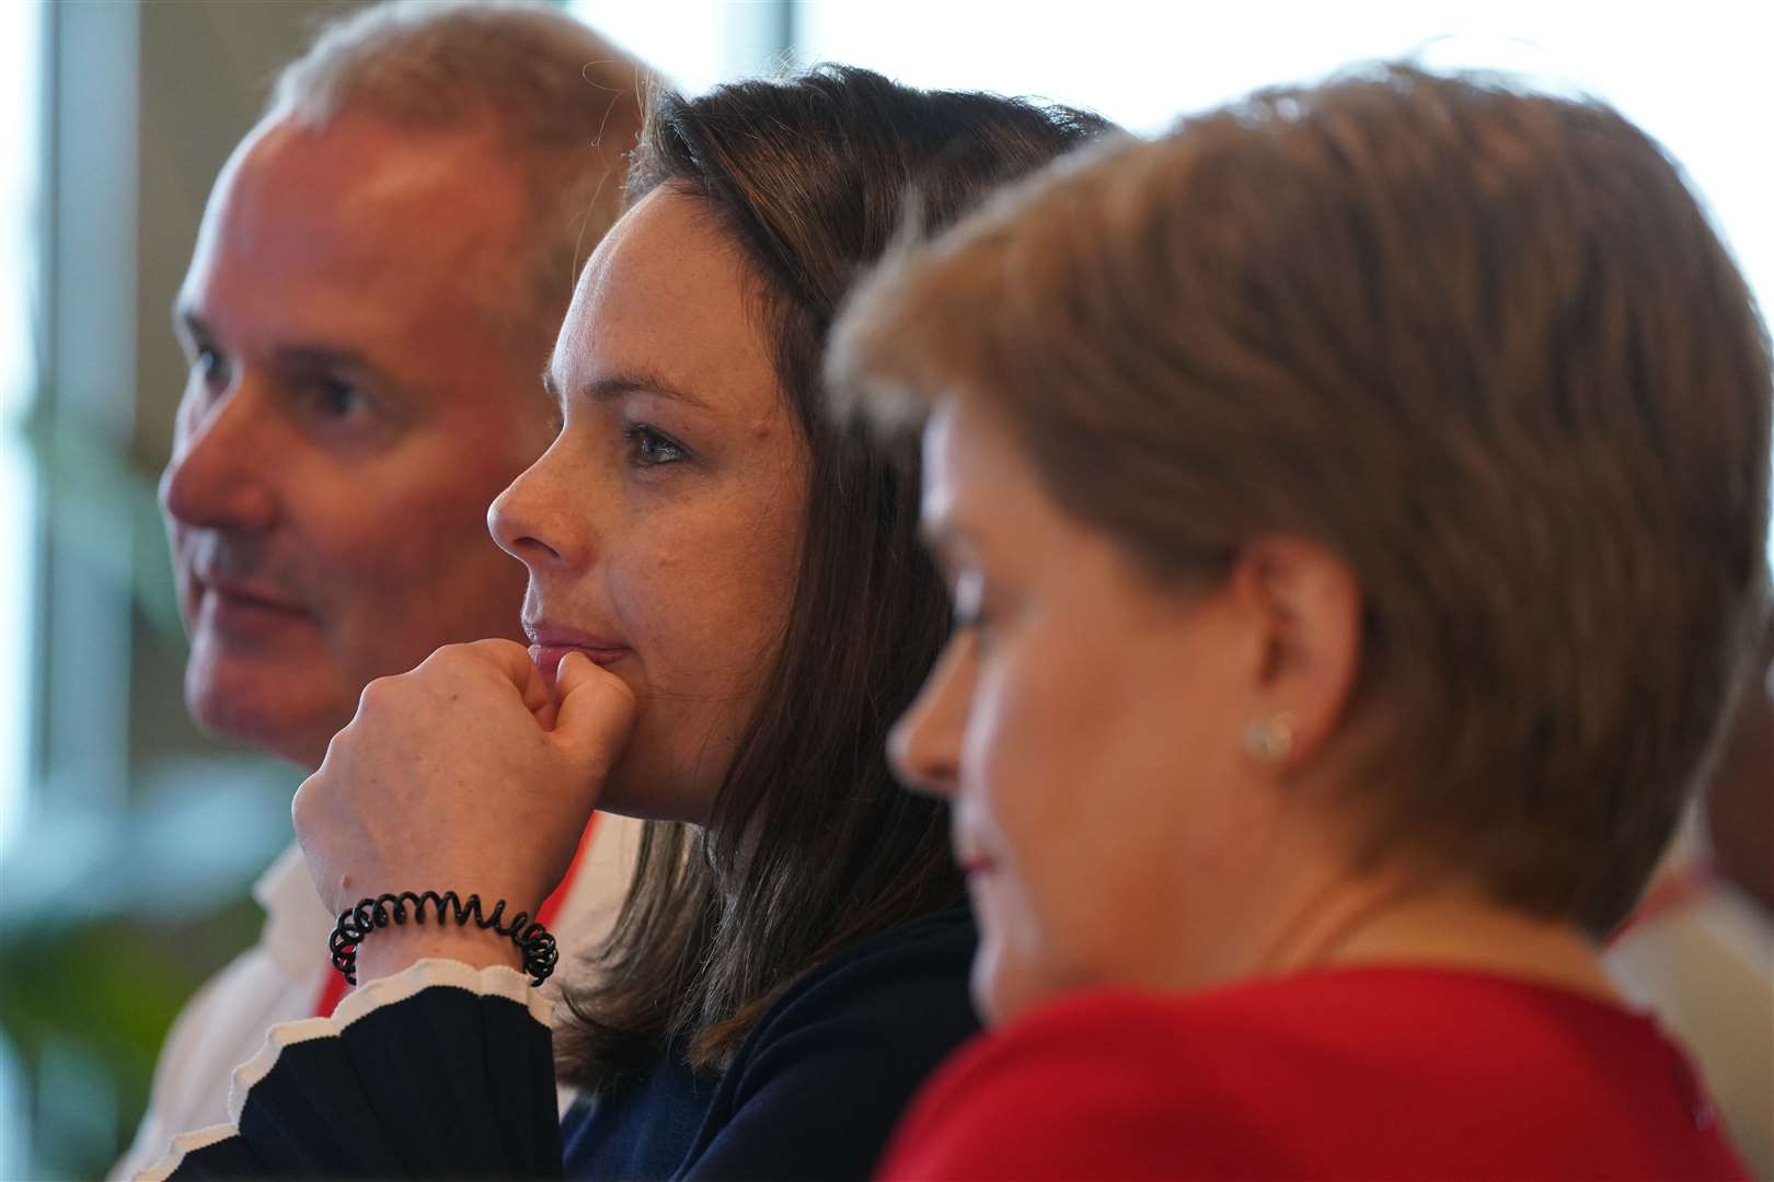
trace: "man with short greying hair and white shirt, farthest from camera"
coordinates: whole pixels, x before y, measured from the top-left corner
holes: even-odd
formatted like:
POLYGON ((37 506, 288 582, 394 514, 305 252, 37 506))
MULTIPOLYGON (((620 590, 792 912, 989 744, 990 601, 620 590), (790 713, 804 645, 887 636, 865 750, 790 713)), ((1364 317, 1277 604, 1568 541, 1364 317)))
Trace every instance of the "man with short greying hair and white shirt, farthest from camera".
MULTIPOLYGON (((539 374, 619 213, 644 80, 569 16, 490 2, 362 9, 284 69, 174 308, 190 376, 160 491, 206 728, 312 769, 369 680, 523 634, 486 509, 553 438, 539 374)), ((635 822, 594 820, 543 909, 564 957, 632 863, 635 822)), ((342 992, 294 847, 254 895, 259 943, 179 1015, 119 1175, 225 1122, 266 1028, 342 992)))

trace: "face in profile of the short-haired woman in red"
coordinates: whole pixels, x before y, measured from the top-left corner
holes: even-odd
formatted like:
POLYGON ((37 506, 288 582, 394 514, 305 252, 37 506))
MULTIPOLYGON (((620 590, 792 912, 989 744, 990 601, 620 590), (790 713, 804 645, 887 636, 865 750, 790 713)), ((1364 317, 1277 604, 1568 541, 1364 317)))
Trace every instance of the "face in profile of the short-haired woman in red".
POLYGON ((953 799, 983 1015, 1187 980, 1236 914, 1240 847, 1270 799, 1238 750, 1251 629, 1059 509, 977 399, 930 418, 922 528, 958 631, 891 755, 953 799))

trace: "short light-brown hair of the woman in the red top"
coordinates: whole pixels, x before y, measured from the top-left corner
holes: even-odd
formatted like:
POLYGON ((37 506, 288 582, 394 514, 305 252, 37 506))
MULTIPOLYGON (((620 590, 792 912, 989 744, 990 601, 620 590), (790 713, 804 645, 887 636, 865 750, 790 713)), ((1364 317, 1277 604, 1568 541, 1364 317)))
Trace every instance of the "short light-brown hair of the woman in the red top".
POLYGON ((1334 549, 1364 858, 1591 932, 1767 627, 1767 333, 1598 103, 1389 66, 1063 161, 878 271, 828 376, 839 413, 988 400, 1158 578, 1334 549))

